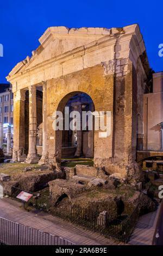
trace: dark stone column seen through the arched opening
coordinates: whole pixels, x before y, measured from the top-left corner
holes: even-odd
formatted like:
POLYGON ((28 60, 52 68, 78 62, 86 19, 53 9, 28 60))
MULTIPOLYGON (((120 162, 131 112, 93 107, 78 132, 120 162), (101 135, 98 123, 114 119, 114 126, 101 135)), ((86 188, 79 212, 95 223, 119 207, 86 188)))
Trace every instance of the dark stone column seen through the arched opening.
POLYGON ((74 111, 78 111, 80 113, 80 131, 77 130, 77 149, 74 156, 79 157, 82 154, 82 104, 81 102, 74 102, 74 111))

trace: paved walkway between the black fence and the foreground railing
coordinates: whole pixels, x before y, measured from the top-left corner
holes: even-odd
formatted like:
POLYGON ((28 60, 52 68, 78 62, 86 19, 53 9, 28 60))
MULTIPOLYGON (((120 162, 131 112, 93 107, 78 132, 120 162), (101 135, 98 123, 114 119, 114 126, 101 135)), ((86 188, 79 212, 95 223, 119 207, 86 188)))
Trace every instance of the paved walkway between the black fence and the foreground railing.
POLYGON ((20 208, 21 204, 9 198, 0 199, 0 217, 29 227, 61 236, 77 245, 116 245, 117 241, 105 238, 76 225, 62 221, 58 217, 41 211, 28 212, 20 208))

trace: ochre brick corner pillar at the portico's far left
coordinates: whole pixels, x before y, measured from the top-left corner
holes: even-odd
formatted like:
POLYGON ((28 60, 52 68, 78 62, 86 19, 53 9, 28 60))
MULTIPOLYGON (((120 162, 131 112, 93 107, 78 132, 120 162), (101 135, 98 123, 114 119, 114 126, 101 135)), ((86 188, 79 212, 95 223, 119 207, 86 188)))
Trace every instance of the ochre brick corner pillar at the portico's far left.
POLYGON ((17 90, 14 93, 14 144, 12 151, 12 161, 24 161, 26 155, 23 154, 25 147, 25 120, 24 101, 26 99, 25 90, 17 90), (21 157, 22 156, 22 157, 21 157))

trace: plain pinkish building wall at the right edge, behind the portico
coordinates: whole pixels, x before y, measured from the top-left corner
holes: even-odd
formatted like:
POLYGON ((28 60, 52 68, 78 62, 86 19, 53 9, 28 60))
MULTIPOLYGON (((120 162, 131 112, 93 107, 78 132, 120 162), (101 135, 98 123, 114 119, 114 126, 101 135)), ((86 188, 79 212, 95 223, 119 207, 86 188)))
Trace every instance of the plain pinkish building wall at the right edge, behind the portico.
POLYGON ((153 92, 143 101, 143 150, 163 151, 163 72, 153 74, 153 92))

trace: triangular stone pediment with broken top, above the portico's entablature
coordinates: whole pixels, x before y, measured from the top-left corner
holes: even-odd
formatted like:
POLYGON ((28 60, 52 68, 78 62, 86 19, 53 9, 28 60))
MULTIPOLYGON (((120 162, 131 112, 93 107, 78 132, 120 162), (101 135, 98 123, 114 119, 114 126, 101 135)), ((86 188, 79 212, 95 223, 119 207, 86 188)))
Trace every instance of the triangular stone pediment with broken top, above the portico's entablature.
POLYGON ((90 44, 109 34, 110 29, 107 28, 49 27, 39 39, 40 46, 32 52, 32 57, 27 56, 26 59, 18 63, 9 75, 29 70, 45 60, 90 44))

